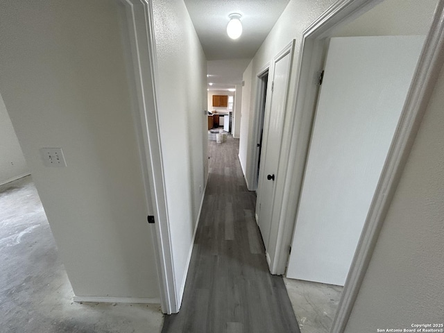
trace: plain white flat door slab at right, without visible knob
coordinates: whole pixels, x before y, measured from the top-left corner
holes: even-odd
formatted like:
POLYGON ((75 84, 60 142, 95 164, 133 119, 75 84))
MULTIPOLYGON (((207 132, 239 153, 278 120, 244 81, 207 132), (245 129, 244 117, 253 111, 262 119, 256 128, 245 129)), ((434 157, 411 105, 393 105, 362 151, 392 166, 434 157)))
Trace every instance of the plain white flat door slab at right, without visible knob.
POLYGON ((423 42, 332 38, 288 278, 345 283, 423 42))

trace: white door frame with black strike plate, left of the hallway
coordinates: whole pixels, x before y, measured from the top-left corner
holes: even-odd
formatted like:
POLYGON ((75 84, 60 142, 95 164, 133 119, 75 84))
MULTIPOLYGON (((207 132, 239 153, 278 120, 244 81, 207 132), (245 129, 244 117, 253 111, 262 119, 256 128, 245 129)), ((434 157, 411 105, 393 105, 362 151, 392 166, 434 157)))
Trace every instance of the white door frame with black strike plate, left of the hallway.
MULTIPOLYGON (((117 0, 126 8, 130 58, 135 86, 135 130, 141 160, 148 215, 155 223, 154 244, 160 301, 164 314, 179 311, 176 279, 173 270, 171 232, 165 194, 162 149, 156 101, 157 59, 153 24, 153 8, 148 0, 117 0), (137 8, 136 8, 137 7, 137 8)), ((124 36, 124 35, 123 35, 124 36)), ((133 83, 131 83, 133 84, 133 83)))

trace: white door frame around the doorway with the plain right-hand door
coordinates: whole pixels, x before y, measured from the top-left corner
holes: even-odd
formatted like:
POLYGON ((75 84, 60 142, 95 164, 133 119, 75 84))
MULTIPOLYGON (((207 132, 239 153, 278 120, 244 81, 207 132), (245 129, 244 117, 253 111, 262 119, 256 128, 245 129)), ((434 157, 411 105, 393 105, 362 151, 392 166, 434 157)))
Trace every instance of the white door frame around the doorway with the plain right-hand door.
MULTIPOLYGON (((294 90, 293 112, 291 114, 291 142, 288 179, 284 187, 278 237, 278 271, 284 271, 289 258, 296 223, 300 189, 307 162, 312 123, 317 101, 318 87, 313 85, 314 73, 323 65, 324 42, 332 28, 343 22, 359 17, 381 0, 339 0, 328 8, 321 17, 302 34, 300 58, 298 60, 297 82, 294 90)), ((407 93, 404 108, 398 122, 391 148, 388 151, 377 189, 370 205, 364 229, 348 273, 331 333, 341 333, 348 323, 355 300, 364 280, 368 264, 373 255, 379 231, 382 228, 388 207, 395 193, 400 176, 407 161, 411 146, 420 126, 429 98, 444 63, 444 0, 438 0, 432 24, 427 33, 415 74, 407 93)))

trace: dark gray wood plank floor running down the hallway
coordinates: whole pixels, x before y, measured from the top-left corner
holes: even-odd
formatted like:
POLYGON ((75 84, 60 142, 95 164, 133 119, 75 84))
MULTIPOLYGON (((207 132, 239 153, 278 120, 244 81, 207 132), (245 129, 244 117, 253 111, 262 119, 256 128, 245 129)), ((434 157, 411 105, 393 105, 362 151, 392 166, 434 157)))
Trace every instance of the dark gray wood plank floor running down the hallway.
POLYGON ((239 139, 209 142, 210 176, 178 314, 164 333, 300 332, 287 289, 271 275, 246 188, 239 139))

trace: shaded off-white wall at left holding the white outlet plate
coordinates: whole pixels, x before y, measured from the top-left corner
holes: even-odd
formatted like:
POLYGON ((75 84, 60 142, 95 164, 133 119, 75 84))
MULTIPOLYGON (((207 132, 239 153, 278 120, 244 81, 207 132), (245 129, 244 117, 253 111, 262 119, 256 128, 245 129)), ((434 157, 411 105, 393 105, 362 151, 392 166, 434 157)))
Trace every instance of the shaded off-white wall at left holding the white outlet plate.
POLYGON ((0 28, 0 92, 74 293, 158 301, 117 1, 6 0, 0 28))

